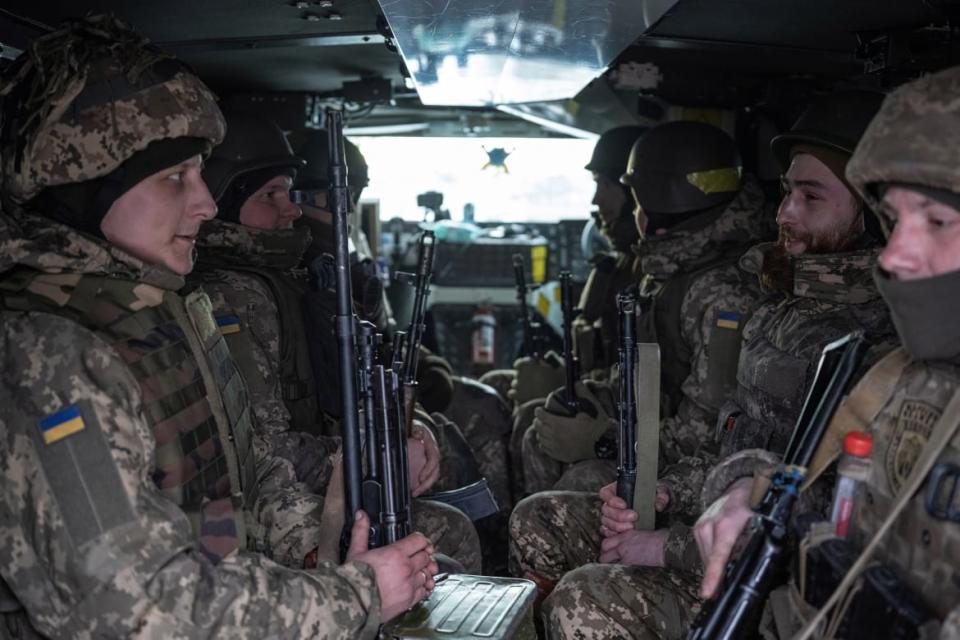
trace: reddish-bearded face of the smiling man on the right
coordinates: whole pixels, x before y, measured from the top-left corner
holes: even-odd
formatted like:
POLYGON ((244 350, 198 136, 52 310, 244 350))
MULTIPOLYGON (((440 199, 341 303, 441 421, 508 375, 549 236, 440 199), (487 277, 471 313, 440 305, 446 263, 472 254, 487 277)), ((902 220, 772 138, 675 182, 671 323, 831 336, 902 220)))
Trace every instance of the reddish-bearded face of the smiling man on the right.
POLYGON ((863 232, 863 215, 853 194, 812 155, 794 156, 780 183, 777 225, 787 253, 835 253, 863 232))

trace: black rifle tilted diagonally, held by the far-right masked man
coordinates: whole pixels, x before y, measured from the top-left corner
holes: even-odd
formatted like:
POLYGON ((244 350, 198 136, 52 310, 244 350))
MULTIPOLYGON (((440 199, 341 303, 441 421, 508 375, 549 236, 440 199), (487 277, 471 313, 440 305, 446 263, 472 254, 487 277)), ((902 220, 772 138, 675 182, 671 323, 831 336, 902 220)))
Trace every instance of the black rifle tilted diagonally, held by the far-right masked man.
POLYGON ((687 640, 735 640, 755 634, 763 604, 782 577, 789 551, 790 514, 807 477, 807 467, 865 350, 862 331, 824 347, 783 462, 757 509, 759 526, 739 558, 727 564, 723 590, 704 604, 687 640))

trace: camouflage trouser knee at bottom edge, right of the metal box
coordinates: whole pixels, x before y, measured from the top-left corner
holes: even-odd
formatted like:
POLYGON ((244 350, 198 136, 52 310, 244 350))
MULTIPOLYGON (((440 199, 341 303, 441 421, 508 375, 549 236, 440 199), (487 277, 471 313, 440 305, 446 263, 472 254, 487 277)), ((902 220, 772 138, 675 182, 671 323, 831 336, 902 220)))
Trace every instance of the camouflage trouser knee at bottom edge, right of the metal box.
POLYGON ((589 564, 543 603, 547 638, 673 640, 697 613, 700 579, 658 567, 589 564))

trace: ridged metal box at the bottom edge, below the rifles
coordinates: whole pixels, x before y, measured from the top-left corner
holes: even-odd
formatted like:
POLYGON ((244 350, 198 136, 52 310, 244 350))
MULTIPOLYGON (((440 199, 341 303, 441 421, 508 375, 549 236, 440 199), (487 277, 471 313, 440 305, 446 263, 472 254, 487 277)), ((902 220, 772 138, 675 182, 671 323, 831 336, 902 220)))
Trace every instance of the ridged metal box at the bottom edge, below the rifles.
POLYGON ((383 638, 536 640, 529 580, 452 575, 430 597, 383 626, 383 638))

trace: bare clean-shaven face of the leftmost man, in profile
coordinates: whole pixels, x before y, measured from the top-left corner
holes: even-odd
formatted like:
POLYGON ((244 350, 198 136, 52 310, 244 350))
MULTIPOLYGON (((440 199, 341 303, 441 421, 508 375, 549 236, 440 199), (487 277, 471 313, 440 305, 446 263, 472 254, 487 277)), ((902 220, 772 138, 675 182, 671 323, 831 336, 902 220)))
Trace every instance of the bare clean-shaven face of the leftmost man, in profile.
POLYGON ((201 166, 196 156, 138 182, 103 217, 104 237, 144 262, 190 273, 200 225, 217 215, 201 166))

